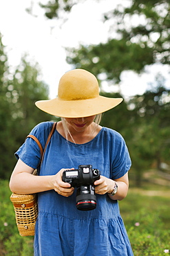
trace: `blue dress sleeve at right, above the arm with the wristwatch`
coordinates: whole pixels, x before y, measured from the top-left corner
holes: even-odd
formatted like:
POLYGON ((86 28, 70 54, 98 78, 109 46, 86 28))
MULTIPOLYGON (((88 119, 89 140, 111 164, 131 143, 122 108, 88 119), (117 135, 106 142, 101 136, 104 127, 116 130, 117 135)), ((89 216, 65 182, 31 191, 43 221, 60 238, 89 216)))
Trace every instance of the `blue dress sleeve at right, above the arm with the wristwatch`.
POLYGON ((112 179, 124 176, 131 167, 131 158, 123 137, 118 134, 114 140, 114 160, 112 161, 112 179))

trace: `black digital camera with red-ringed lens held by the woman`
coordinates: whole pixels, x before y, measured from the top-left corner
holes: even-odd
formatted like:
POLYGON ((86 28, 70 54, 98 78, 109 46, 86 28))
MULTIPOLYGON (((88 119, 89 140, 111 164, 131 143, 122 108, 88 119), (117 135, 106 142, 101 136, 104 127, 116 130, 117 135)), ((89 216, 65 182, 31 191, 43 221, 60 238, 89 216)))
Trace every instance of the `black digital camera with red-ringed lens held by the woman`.
POLYGON ((100 171, 92 169, 92 165, 79 165, 76 170, 65 170, 62 180, 77 188, 76 208, 78 210, 94 210, 96 195, 94 181, 100 179, 100 171))

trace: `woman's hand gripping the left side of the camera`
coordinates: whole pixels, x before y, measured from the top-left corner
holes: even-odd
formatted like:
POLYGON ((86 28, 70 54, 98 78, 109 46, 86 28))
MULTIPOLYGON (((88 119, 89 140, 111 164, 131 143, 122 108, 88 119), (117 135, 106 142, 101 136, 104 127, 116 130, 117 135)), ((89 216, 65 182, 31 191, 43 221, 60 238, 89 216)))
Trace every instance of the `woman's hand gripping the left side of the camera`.
POLYGON ((74 170, 72 169, 61 169, 57 174, 52 176, 52 188, 58 194, 62 196, 71 196, 74 192, 74 188, 71 187, 70 183, 66 183, 62 181, 62 175, 65 170, 74 170))

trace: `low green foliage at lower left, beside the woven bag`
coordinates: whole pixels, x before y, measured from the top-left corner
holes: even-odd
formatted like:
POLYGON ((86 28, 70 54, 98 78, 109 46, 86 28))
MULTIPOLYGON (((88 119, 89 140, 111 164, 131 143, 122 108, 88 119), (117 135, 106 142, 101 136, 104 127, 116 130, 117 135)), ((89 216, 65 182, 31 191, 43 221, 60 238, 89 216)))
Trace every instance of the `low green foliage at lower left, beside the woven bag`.
POLYGON ((8 181, 0 180, 0 255, 33 255, 32 237, 21 237, 15 223, 14 208, 10 201, 8 181))

